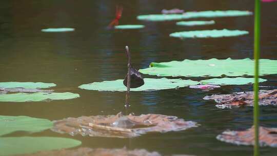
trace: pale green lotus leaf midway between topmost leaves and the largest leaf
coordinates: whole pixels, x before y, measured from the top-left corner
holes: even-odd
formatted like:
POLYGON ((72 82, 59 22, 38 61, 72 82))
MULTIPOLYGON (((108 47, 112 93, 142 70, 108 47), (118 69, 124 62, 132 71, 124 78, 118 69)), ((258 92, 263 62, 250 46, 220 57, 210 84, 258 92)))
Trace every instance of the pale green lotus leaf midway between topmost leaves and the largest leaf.
POLYGON ((182 31, 169 34, 170 37, 178 38, 209 38, 209 37, 231 37, 248 34, 248 31, 242 30, 196 30, 196 31, 182 31))

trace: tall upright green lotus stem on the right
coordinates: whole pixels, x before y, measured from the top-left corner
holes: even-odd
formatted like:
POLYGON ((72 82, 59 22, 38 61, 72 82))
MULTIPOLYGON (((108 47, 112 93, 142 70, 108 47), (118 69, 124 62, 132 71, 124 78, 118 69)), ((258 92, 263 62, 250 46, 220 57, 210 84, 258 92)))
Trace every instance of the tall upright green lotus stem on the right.
POLYGON ((260 155, 259 151, 259 57, 260 57, 260 19, 261 19, 261 2, 255 0, 255 17, 254 17, 254 129, 255 144, 254 156, 260 155))

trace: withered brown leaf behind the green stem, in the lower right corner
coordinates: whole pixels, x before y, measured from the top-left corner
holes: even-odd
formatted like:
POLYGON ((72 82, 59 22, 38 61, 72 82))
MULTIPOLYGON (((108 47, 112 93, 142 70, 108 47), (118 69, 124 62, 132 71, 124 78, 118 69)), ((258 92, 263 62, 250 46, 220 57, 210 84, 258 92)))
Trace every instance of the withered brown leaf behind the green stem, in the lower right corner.
MULTIPOLYGON (((226 130, 217 135, 216 139, 236 145, 254 145, 254 126, 245 131, 226 130)), ((277 147, 277 128, 260 126, 259 141, 260 146, 277 147)))

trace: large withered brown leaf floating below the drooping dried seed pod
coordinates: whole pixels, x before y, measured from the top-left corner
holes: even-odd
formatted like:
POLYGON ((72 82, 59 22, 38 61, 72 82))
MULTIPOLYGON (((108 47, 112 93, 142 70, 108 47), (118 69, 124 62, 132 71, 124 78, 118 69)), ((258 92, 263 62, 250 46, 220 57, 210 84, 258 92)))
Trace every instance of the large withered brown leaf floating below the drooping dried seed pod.
POLYGON ((55 132, 116 138, 131 138, 150 132, 181 131, 198 126, 196 122, 161 114, 135 116, 118 113, 66 118, 53 122, 54 127, 51 130, 55 132))

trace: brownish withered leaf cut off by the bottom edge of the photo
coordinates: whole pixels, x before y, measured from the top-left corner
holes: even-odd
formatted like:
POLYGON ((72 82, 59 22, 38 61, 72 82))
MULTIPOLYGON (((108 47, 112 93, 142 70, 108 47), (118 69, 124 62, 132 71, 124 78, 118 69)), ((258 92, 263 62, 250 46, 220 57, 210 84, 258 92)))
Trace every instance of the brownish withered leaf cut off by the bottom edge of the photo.
MULTIPOLYGON (((28 154, 28 156, 49 156, 49 155, 58 155, 58 156, 161 156, 158 152, 148 152, 145 149, 134 149, 127 150, 126 148, 117 148, 117 149, 105 149, 105 148, 87 148, 80 147, 77 149, 61 149, 53 151, 42 151, 33 154, 28 154)), ((20 155, 18 155, 20 156, 20 155)), ((27 156, 27 155, 25 155, 27 156)), ((183 155, 182 155, 183 156, 183 155)), ((184 155, 185 156, 185 155, 184 155)))

